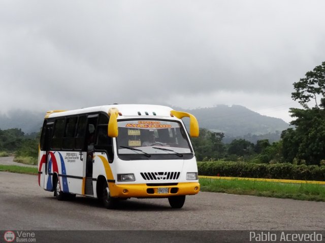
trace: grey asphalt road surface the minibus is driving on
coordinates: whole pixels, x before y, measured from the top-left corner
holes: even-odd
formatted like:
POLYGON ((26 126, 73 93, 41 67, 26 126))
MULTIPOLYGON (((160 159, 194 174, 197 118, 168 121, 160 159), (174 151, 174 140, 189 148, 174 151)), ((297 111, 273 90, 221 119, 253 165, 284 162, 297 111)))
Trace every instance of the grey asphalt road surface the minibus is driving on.
MULTIPOLYGON (((78 231, 77 234, 71 233, 74 231, 63 232, 66 232, 66 236, 70 232, 72 235, 79 236, 85 234, 86 237, 93 231, 84 230, 105 230, 98 232, 113 230, 110 231, 111 237, 112 234, 116 234, 117 237, 114 242, 127 242, 125 238, 123 241, 118 241, 123 237, 120 237, 119 231, 115 231, 126 230, 143 242, 148 240, 146 238, 148 234, 145 233, 147 231, 144 230, 159 230, 151 231, 156 233, 149 237, 163 234, 160 239, 168 239, 171 235, 169 242, 183 242, 181 239, 184 242, 210 242, 208 239, 213 239, 214 236, 210 234, 214 234, 214 231, 201 231, 204 235, 201 235, 198 241, 192 232, 198 232, 195 230, 323 230, 324 216, 325 203, 322 202, 211 192, 187 196, 185 205, 180 210, 171 209, 166 198, 132 198, 121 201, 120 206, 115 210, 107 210, 97 200, 82 196, 77 196, 73 201, 58 201, 53 197, 53 192, 39 187, 37 176, 0 172, 0 231, 83 230, 78 231), (179 235, 183 237, 177 238, 179 235), (175 236, 177 241, 173 241, 175 236), (191 241, 188 241, 189 239, 191 241)), ((232 231, 226 233, 230 232, 232 231)), ((52 234, 53 239, 62 235, 52 234)), ((233 237, 236 234, 242 237, 239 231, 231 233, 233 237)), ((100 233, 96 235, 99 237, 100 233)), ((85 237, 81 238, 85 239, 85 237)), ((107 235, 103 235, 103 239, 106 237, 107 235)), ((133 242, 138 242, 137 240, 133 242)), ((54 240, 53 242, 65 241, 54 240)), ((151 242, 160 241, 151 240, 151 242)), ((233 241, 219 240, 218 242, 233 241)))

